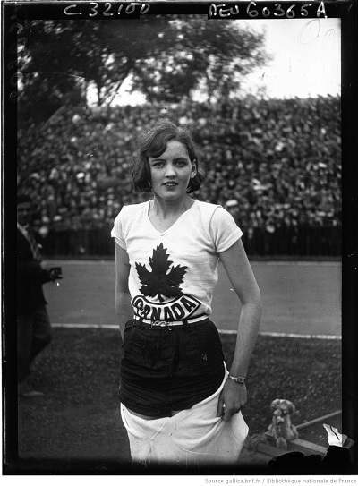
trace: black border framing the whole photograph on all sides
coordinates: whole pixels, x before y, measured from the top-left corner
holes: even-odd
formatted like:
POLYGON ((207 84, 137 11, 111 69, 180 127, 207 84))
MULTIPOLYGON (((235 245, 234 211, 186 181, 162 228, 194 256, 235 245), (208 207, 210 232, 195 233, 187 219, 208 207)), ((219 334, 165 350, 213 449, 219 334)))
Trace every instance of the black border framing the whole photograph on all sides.
MULTIPOLYGON (((231 4, 249 4, 249 2, 226 2, 231 4)), ((260 2, 257 4, 275 4, 260 2)), ((320 2, 312 2, 320 4, 320 2)), ((108 464, 98 468, 98 464, 77 463, 75 461, 23 461, 18 457, 17 442, 17 387, 16 387, 16 316, 14 296, 16 281, 14 269, 15 212, 16 212, 16 151, 17 151, 17 65, 16 45, 18 41, 17 24, 31 18, 67 18, 64 6, 80 5, 84 12, 88 2, 4 2, 2 8, 2 121, 3 121, 3 166, 2 166, 2 283, 3 283, 3 474, 155 474, 156 471, 133 471, 128 467, 108 464), (39 16, 38 16, 39 15, 39 16), (55 17, 54 17, 55 15, 55 17)), ((112 4, 118 4, 113 2, 112 4)), ((128 3, 127 3, 128 4, 128 3)), ((209 2, 148 2, 150 13, 209 13, 209 2)), ((216 3, 217 4, 217 3, 216 3)), ((291 2, 281 2, 290 5, 291 2)), ((307 2, 295 2, 307 4, 307 2)), ((342 42, 342 155, 343 155, 343 253, 342 253, 342 347, 343 347, 343 425, 342 431, 355 441, 350 448, 354 473, 357 465, 357 381, 358 381, 358 319, 357 319, 357 272, 358 272, 358 153, 357 153, 357 3, 355 0, 324 2, 329 17, 341 18, 342 42)), ((74 9, 72 10, 72 12, 74 9)), ((88 13, 88 10, 86 11, 88 13)), ((73 17, 72 17, 73 18, 73 17)), ((84 18, 83 15, 81 18, 84 18)), ((100 17, 94 17, 94 21, 100 17)), ((247 19, 247 17, 244 17, 247 19)), ((258 17, 260 18, 260 17, 258 17)), ((261 17, 264 18, 264 17, 261 17)), ((213 21, 221 19, 214 19, 213 21)), ((269 19, 268 19, 269 21, 269 19)), ((329 371, 329 370, 328 370, 329 371)), ((262 471, 233 471, 225 473, 267 473, 262 471)), ((161 473, 175 472, 174 469, 161 473)), ((221 472, 224 473, 224 472, 221 472)), ((303 471, 304 473, 304 471, 303 471)))

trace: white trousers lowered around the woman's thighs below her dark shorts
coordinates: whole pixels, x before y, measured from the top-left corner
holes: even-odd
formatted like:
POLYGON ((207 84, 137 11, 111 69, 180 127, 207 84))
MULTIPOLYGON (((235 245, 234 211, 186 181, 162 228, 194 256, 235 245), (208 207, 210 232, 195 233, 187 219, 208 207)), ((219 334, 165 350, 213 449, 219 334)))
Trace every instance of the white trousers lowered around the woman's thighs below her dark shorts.
POLYGON ((227 372, 213 395, 173 417, 145 420, 121 405, 132 462, 175 466, 234 465, 249 428, 241 412, 234 414, 230 422, 217 417, 218 397, 226 379, 227 372))

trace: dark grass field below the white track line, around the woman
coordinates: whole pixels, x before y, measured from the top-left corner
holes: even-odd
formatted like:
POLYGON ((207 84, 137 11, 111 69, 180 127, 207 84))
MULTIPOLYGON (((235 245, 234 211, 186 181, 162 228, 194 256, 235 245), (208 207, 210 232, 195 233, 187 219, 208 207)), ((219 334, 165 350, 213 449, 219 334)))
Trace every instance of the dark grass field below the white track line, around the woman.
MULTIPOLYGON (((222 339, 230 364, 234 336, 222 339)), ((95 465, 128 464, 128 441, 116 396, 120 351, 119 333, 113 329, 55 329, 53 343, 38 357, 34 373, 45 396, 19 400, 21 458, 37 459, 44 470, 50 459, 69 467, 79 459, 95 465)), ((260 336, 248 374, 249 401, 243 409, 250 433, 267 430, 269 405, 275 398, 294 402, 296 425, 339 410, 340 384, 339 341, 260 336)), ((313 439, 328 447, 323 428, 313 439)))

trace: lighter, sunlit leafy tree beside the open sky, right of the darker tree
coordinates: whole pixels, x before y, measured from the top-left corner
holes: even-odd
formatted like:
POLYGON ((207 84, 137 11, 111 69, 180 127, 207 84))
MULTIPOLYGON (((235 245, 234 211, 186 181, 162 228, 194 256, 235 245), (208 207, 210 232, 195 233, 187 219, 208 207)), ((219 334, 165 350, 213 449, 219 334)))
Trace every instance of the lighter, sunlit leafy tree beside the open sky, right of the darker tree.
POLYGON ((197 15, 177 16, 169 23, 175 30, 172 44, 136 62, 133 87, 149 100, 180 101, 199 88, 209 102, 227 98, 268 58, 263 35, 243 30, 238 22, 197 15))

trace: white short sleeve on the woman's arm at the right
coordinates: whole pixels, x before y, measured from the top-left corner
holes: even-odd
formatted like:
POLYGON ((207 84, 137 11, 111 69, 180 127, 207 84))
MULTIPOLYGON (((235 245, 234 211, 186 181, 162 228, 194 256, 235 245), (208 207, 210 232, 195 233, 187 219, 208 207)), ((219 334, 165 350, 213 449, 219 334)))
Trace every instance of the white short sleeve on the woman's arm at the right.
POLYGON ((226 209, 218 206, 210 220, 210 234, 217 253, 225 252, 243 236, 234 217, 226 209))

